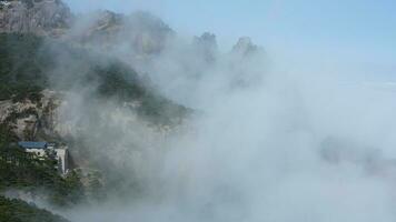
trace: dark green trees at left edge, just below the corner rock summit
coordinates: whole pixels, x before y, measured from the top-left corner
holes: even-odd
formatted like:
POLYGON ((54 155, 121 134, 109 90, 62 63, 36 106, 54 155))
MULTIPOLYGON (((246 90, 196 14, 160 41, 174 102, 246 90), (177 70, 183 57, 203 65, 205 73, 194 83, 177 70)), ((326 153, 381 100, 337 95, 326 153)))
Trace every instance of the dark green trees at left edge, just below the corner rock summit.
POLYGON ((0 34, 0 100, 40 99, 47 85, 50 59, 39 49, 42 39, 31 34, 0 34))

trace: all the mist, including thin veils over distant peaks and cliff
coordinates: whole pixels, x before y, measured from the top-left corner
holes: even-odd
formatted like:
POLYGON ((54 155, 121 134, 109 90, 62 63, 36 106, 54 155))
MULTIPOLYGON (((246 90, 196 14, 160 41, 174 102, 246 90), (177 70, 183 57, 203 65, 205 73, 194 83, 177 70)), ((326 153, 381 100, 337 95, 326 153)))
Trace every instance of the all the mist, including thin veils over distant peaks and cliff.
MULTIPOLYGON (((143 57, 123 31, 107 56, 196 111, 178 127, 152 127, 111 98, 89 101, 96 84, 65 92, 60 131, 125 184, 107 201, 61 212, 71 221, 396 219, 394 90, 285 71, 247 38, 221 52, 208 33, 170 34, 143 57)), ((90 48, 101 53, 98 42, 90 48)))

